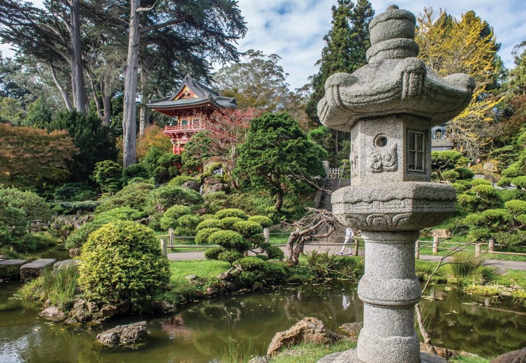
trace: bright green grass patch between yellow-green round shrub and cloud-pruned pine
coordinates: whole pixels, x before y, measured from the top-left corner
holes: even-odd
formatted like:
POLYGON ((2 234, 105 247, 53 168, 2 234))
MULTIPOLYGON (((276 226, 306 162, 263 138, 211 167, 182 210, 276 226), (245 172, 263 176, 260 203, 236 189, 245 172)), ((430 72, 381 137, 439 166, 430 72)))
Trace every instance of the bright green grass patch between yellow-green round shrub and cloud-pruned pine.
POLYGON ((217 260, 170 261, 170 279, 185 280, 185 276, 197 275, 199 278, 215 278, 221 272, 228 271, 230 264, 217 260))

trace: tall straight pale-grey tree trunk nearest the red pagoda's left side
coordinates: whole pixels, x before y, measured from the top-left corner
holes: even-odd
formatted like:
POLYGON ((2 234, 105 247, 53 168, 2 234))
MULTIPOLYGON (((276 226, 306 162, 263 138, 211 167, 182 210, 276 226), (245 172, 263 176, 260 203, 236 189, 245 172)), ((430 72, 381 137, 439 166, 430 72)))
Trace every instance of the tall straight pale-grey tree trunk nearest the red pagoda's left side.
POLYGON ((135 154, 136 143, 136 97, 137 97, 137 71, 139 69, 139 17, 137 8, 140 0, 131 0, 128 55, 126 58, 126 71, 124 73, 124 115, 123 115, 123 154, 124 168, 137 161, 135 154))

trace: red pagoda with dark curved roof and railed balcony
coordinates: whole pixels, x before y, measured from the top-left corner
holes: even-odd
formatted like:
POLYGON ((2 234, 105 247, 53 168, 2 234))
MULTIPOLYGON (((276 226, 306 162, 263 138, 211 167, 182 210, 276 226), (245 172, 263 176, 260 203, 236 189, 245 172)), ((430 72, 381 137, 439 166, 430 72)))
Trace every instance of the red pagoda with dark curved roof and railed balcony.
POLYGON ((203 117, 219 109, 237 109, 236 99, 223 97, 214 90, 187 75, 174 95, 151 100, 151 110, 174 117, 173 123, 165 126, 164 133, 170 136, 174 154, 180 154, 184 145, 196 132, 206 129, 209 123, 203 117))

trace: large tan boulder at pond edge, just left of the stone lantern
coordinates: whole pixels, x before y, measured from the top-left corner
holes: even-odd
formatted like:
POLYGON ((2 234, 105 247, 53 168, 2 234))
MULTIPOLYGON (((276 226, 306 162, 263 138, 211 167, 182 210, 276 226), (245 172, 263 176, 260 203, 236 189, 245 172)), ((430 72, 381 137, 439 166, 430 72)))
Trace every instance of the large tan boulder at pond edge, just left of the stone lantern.
POLYGON ((267 350, 267 356, 276 354, 282 348, 302 342, 332 344, 346 339, 345 336, 327 330, 323 322, 316 318, 303 318, 290 329, 276 333, 267 350))

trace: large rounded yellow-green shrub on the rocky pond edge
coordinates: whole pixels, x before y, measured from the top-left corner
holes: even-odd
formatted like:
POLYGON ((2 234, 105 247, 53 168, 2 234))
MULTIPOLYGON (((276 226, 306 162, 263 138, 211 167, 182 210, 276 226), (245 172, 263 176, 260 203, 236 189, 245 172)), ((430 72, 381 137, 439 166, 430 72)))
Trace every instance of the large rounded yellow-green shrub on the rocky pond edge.
POLYGON ((140 309, 169 282, 154 231, 135 222, 109 223, 90 234, 82 260, 78 282, 92 301, 129 300, 140 309))

